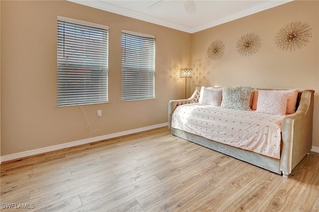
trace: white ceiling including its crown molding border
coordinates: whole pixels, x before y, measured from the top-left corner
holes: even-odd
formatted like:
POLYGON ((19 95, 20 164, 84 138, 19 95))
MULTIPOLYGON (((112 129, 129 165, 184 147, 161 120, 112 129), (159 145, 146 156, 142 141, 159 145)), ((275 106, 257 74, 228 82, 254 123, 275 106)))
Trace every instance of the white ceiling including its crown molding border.
POLYGON ((290 2, 292 0, 69 1, 159 24, 188 33, 194 33, 290 2), (194 5, 189 5, 192 3, 194 3, 194 5), (190 11, 188 9, 190 9, 190 11))

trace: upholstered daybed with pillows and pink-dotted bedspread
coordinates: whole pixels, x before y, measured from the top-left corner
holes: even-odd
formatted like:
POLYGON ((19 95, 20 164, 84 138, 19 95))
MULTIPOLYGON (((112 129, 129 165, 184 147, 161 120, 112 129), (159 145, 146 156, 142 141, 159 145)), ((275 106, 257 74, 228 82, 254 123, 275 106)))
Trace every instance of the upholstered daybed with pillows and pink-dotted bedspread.
MULTIPOLYGON (((244 91, 242 88, 249 87, 233 87, 230 89, 244 91)), ((249 90, 251 92, 249 100, 246 98, 242 101, 244 103, 248 101, 249 108, 242 110, 227 105, 227 101, 234 101, 232 99, 227 100, 229 98, 227 89, 229 88, 219 89, 222 97, 219 97, 220 91, 219 95, 216 95, 217 92, 214 91, 214 94, 207 96, 208 89, 217 90, 216 88, 198 87, 195 88, 194 93, 188 99, 169 101, 168 127, 171 130, 171 134, 271 172, 282 174, 286 178, 291 174, 294 167, 310 153, 312 148, 315 91, 296 89, 297 100, 295 99, 294 101, 296 105, 293 111, 290 112, 291 114, 268 114, 267 108, 274 103, 266 103, 265 111, 265 105, 261 106, 262 101, 265 101, 265 93, 267 97, 270 92, 287 93, 285 90, 251 89, 249 90), (206 93, 203 93, 204 91, 206 93), (257 96, 258 92, 260 99, 257 96), (261 92, 264 95, 263 100, 261 99, 261 92), (204 95, 205 101, 202 99, 204 95), (216 103, 215 100, 211 102, 207 101, 207 97, 221 98, 221 100, 219 100, 219 103, 218 101, 216 103), (223 101, 226 105, 223 104, 223 101), (254 104, 255 106, 253 106, 254 104), (256 109, 256 104, 259 109, 256 109), (257 120, 257 123, 252 122, 252 120, 257 120), (260 121, 260 124, 258 121, 260 121), (270 124, 265 121, 270 121, 270 124), (245 127, 242 126, 244 124, 245 127), (274 124, 273 129, 275 132, 271 132, 268 129, 271 128, 271 124, 274 124), (246 133, 248 134, 235 134, 233 131, 225 131, 227 128, 236 131, 236 133, 247 131, 246 133), (263 131, 264 129, 262 128, 268 131, 263 131), (224 137, 218 137, 220 134, 224 137), (272 138, 278 137, 278 135, 279 144, 276 144, 272 138), (268 151, 268 154, 264 154, 264 151, 268 151)), ((286 98, 287 101, 289 99, 288 95, 284 96, 283 98, 286 98)), ((285 112, 288 112, 288 107, 285 112)))

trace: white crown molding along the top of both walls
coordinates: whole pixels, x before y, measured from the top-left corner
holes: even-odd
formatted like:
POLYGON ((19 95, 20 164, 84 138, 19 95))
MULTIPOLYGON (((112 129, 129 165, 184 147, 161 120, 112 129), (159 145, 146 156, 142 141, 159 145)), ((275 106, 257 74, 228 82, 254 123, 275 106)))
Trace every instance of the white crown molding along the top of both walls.
POLYGON ((135 18, 135 19, 139 19, 139 20, 143 20, 146 22, 150 22, 150 23, 154 23, 154 24, 158 24, 161 26, 165 26, 168 28, 172 28, 172 29, 176 29, 176 30, 180 30, 180 31, 184 31, 184 32, 188 32, 188 33, 195 33, 204 29, 208 29, 232 20, 236 20, 238 18, 242 18, 275 6, 279 6, 281 4, 285 4, 288 3, 290 1, 293 0, 268 0, 264 3, 258 4, 256 6, 250 7, 248 9, 244 9, 241 10, 239 12, 233 13, 231 15, 216 19, 214 21, 208 22, 206 24, 202 24, 199 25, 197 27, 187 27, 184 25, 180 25, 180 24, 176 24, 170 21, 166 21, 160 18, 156 18, 150 15, 146 15, 143 14, 141 12, 136 12, 130 9, 126 9, 123 7, 119 7, 119 6, 115 6, 113 4, 107 3, 105 1, 102 0, 68 0, 74 3, 78 3, 78 4, 82 4, 82 5, 86 5, 86 6, 90 6, 93 8, 97 8, 97 9, 101 9, 104 11, 108 11, 108 12, 112 12, 112 13, 116 13, 116 14, 120 14, 123 16, 127 16, 127 17, 131 17, 131 18, 135 18))

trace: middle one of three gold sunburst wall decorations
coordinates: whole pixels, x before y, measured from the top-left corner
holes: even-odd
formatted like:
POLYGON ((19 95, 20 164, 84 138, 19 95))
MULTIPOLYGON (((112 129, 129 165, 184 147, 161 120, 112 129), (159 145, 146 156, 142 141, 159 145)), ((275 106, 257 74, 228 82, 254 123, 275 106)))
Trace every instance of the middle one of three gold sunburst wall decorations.
POLYGON ((261 46, 260 37, 255 33, 247 33, 238 40, 236 48, 241 56, 249 57, 256 54, 261 46))

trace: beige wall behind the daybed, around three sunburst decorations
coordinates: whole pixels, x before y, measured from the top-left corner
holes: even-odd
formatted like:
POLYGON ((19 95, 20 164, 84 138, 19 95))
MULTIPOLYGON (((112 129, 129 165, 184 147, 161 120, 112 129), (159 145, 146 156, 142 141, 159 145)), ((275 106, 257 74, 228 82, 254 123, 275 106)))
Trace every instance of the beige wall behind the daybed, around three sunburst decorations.
POLYGON ((192 36, 192 67, 196 86, 251 86, 253 88, 301 88, 315 93, 313 146, 319 147, 319 1, 292 1, 247 17, 212 27, 192 36), (311 26, 310 42, 295 52, 275 45, 281 27, 300 21, 311 26), (250 57, 236 51, 240 37, 256 33, 261 48, 250 57), (207 49, 215 40, 225 44, 225 54, 210 60, 207 49))

